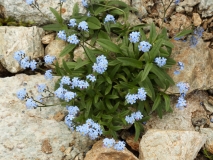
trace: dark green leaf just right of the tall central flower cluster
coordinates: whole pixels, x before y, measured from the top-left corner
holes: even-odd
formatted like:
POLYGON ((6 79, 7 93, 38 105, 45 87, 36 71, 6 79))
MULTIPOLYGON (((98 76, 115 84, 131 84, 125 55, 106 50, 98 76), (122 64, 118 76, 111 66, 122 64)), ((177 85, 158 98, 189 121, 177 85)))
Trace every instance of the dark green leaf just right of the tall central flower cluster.
POLYGON ((117 60, 122 62, 123 66, 131 66, 131 67, 142 69, 142 62, 134 58, 118 57, 117 60))

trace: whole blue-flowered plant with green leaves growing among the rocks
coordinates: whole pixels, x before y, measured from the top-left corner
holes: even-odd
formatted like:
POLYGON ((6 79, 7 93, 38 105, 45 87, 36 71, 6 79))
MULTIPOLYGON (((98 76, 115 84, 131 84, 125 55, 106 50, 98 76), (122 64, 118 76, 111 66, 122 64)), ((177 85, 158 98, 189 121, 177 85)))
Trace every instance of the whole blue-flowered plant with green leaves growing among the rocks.
MULTIPOLYGON (((29 2, 29 1, 28 1, 29 2)), ((28 4, 32 5, 34 1, 28 4)), ((61 5, 65 1, 60 1, 61 5)), ((78 4, 73 9, 70 21, 66 22, 53 8, 57 22, 43 26, 45 30, 58 32, 58 38, 67 42, 60 56, 67 54, 73 59, 73 52, 82 47, 86 60, 65 62, 59 65, 55 57, 45 56, 45 64, 52 65, 45 77, 59 76, 54 93, 46 85, 38 86, 39 97, 30 97, 25 89, 17 92, 26 100, 27 108, 48 107, 43 103, 43 93, 55 95, 68 110, 65 123, 91 139, 101 135, 118 138, 118 132, 134 124, 135 140, 143 131, 143 122, 156 112, 159 117, 172 111, 170 97, 166 90, 174 81, 166 70, 176 62, 170 57, 173 44, 163 28, 157 33, 152 23, 131 26, 127 18, 135 10, 121 1, 82 0, 86 13, 79 13, 78 4), (124 19, 124 23, 118 21, 124 19), (150 27, 149 32, 144 27, 150 27)), ((180 38, 189 32, 181 32, 180 38)), ((36 69, 39 63, 25 56, 24 51, 15 53, 15 59, 23 69, 36 69)), ((179 62, 179 70, 183 63, 179 62)), ((179 71, 177 70, 177 71, 179 71)), ((186 106, 184 96, 189 86, 179 83, 181 97, 177 107, 186 106)), ((104 146, 117 150, 124 148, 124 142, 104 139, 104 146)))

